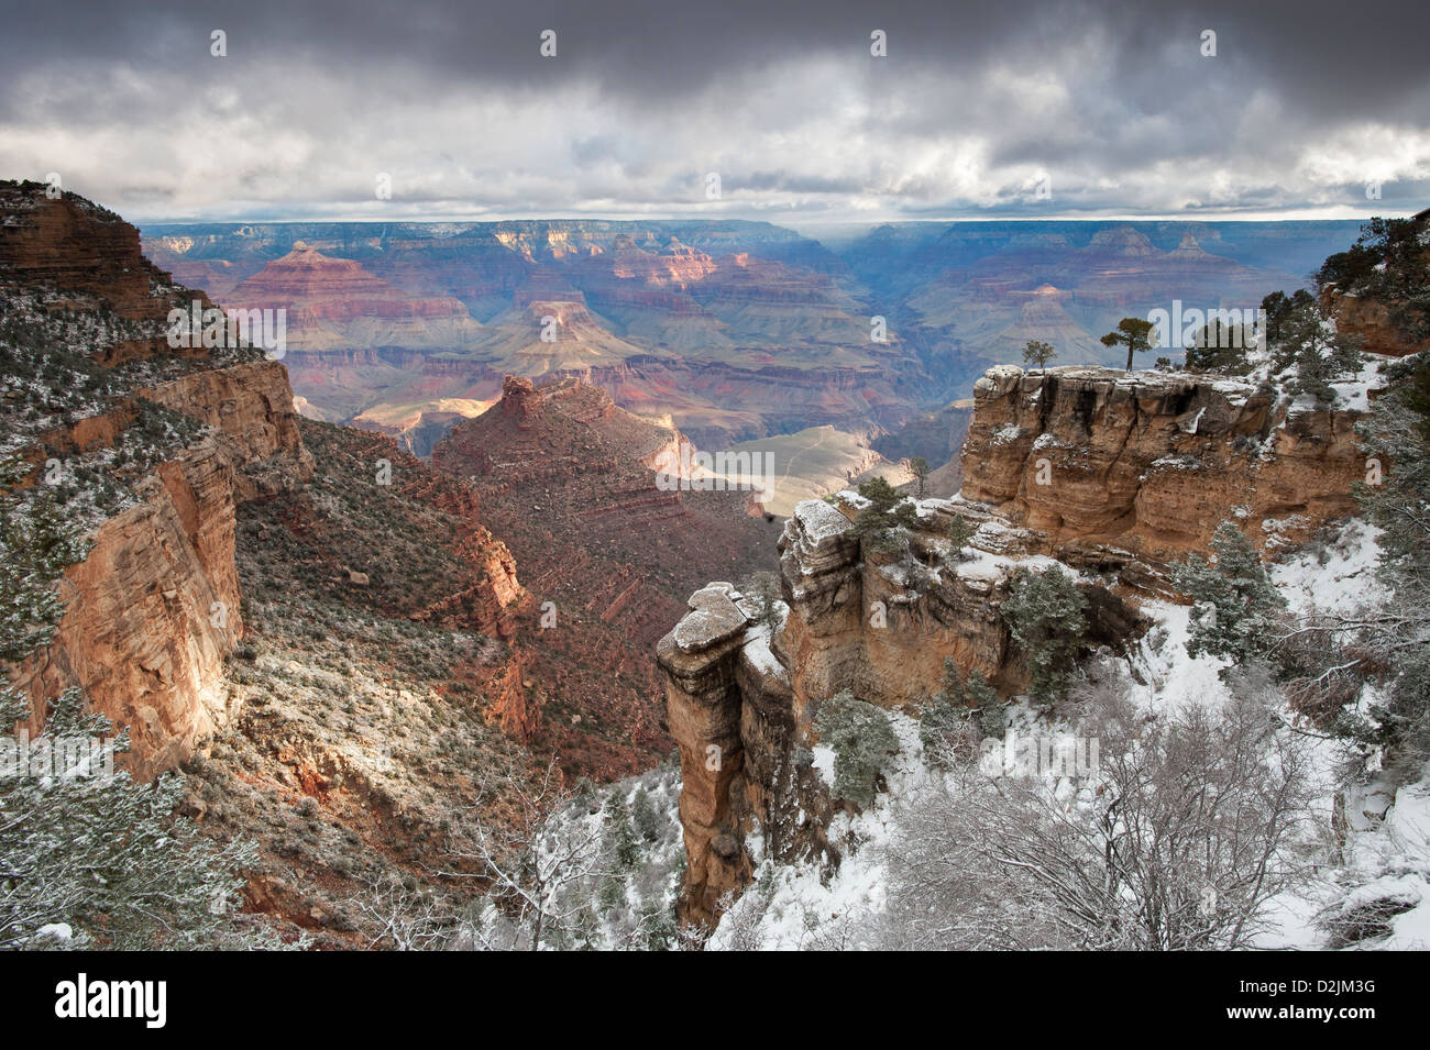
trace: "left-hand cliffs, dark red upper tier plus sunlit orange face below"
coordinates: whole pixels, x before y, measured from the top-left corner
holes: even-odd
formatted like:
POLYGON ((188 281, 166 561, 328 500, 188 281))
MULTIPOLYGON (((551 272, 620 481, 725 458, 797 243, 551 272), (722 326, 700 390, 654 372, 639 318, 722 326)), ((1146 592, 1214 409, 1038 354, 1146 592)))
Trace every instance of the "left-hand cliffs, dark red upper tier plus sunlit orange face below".
MULTIPOLYGON (((0 281, 11 304, 24 294, 29 309, 40 296, 47 310, 59 303, 69 317, 122 319, 100 321, 87 344, 51 349, 83 356, 96 389, 107 393, 49 423, 21 413, 30 430, 20 437, 21 454, 63 463, 69 477, 113 477, 122 473, 114 450, 133 449, 143 406, 172 410, 196 431, 193 440, 150 449, 150 460, 124 481, 130 490, 116 513, 92 520, 94 546, 66 574, 66 614, 53 643, 13 676, 34 704, 36 730, 49 699, 72 686, 84 690, 93 710, 130 729, 126 763, 147 779, 232 713, 219 680, 223 656, 243 633, 235 506, 293 486, 309 470, 293 393, 283 366, 252 351, 169 351, 162 337, 169 309, 209 300, 173 286, 140 254, 134 227, 113 213, 73 196, 50 200, 34 184, 6 184, 0 204, 0 281)), ((21 309, 14 317, 30 323, 21 309)), ((20 413, 21 404, 13 409, 20 413)))

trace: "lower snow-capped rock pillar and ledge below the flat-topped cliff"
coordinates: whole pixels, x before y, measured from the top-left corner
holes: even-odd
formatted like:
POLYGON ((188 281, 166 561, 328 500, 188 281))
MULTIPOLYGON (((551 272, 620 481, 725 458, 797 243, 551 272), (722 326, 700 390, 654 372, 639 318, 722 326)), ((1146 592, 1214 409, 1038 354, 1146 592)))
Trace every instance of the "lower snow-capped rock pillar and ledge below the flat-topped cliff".
MULTIPOLYGON (((855 501, 805 500, 786 520, 774 631, 755 601, 712 583, 659 641, 666 723, 681 749, 686 921, 711 924, 724 896, 744 887, 761 859, 746 843, 782 861, 838 863, 824 833, 832 800, 809 757, 821 701, 851 690, 884 707, 924 704, 948 657, 1004 693, 1027 684, 1000 606, 1028 560, 991 551, 1017 547, 1018 537, 990 523, 975 541, 987 550, 950 557, 948 504, 927 500, 909 553, 879 556, 854 533, 855 501)), ((1090 647, 1120 646, 1145 627, 1101 586, 1080 586, 1090 647)))

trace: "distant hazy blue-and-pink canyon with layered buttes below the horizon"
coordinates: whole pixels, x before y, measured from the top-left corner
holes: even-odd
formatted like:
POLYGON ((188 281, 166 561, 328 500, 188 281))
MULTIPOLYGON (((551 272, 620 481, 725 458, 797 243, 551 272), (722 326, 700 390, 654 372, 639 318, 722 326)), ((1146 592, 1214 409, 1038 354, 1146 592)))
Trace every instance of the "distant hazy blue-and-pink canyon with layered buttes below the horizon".
POLYGON ((1254 307, 1353 230, 914 223, 827 246, 725 220, 243 223, 146 227, 144 247, 225 301, 299 316, 302 411, 426 456, 506 374, 582 379, 708 450, 821 426, 868 443, 1028 339, 1110 363, 1098 337, 1123 316, 1254 307))

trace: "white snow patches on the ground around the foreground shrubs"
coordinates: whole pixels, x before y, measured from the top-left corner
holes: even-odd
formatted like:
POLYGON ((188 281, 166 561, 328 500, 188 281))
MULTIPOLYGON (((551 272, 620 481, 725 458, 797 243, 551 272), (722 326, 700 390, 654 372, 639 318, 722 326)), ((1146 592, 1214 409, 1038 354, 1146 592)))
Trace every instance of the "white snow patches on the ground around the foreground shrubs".
MULTIPOLYGON (((1380 597, 1374 574, 1377 537, 1376 529, 1353 520, 1323 547, 1303 550, 1278 563, 1271 573, 1273 581, 1296 613, 1350 613, 1380 597)), ((977 571, 977 566, 972 570, 977 571)), ((1155 626, 1128 659, 1137 676, 1130 669, 1124 671, 1133 700, 1160 710, 1224 703, 1228 691, 1218 671, 1227 660, 1188 654, 1190 610, 1148 601, 1144 611, 1155 626)), ((1296 721, 1293 713, 1284 714, 1287 721, 1296 721)), ((861 814, 841 813, 829 829, 831 843, 844 853, 839 867, 829 874, 817 863, 776 864, 764 859, 755 880, 722 919, 709 949, 864 946, 861 930, 867 924, 862 920, 887 906, 889 873, 884 847, 898 830, 901 810, 917 803, 919 793, 932 790, 940 776, 924 760, 918 723, 898 711, 891 711, 889 720, 901 750, 887 773, 888 790, 861 814)), ((1027 706, 1015 709, 1010 727, 1044 734, 1068 729, 1038 724, 1027 706)), ((1334 740, 1311 737, 1310 746, 1320 790, 1316 817, 1328 843, 1337 794, 1336 769, 1346 751, 1344 744, 1334 740)), ((815 749, 815 767, 832 780, 832 751, 815 749)), ((1264 947, 1334 947, 1318 916, 1393 899, 1394 907, 1404 910, 1386 920, 1389 936, 1361 940, 1357 946, 1430 949, 1430 780, 1401 787, 1394 799, 1374 783, 1350 796, 1346 806, 1348 833, 1340 857, 1327 846, 1321 877, 1311 890, 1273 901, 1264 947)))

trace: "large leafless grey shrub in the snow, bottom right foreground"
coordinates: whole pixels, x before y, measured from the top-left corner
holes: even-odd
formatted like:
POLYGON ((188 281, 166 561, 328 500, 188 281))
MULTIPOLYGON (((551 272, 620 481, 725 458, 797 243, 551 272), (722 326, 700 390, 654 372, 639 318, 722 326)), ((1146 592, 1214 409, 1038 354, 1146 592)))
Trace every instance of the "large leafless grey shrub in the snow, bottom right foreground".
POLYGON ((889 947, 1187 950, 1248 946, 1307 879, 1313 786, 1264 696, 1145 716, 1087 697, 1100 767, 1050 779, 971 769, 901 816, 889 947))

